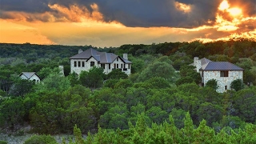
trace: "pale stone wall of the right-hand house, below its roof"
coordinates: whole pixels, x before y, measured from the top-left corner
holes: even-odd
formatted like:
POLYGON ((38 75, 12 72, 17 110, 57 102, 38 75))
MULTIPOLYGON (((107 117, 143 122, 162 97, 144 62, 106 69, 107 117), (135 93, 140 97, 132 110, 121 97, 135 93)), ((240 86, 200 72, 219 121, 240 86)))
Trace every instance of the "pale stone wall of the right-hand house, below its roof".
POLYGON ((242 70, 229 70, 228 71, 228 77, 221 77, 220 71, 203 71, 203 83, 206 86, 206 83, 210 79, 216 79, 218 82, 218 93, 223 93, 226 90, 230 90, 231 82, 233 82, 236 79, 242 79, 243 71, 242 70))

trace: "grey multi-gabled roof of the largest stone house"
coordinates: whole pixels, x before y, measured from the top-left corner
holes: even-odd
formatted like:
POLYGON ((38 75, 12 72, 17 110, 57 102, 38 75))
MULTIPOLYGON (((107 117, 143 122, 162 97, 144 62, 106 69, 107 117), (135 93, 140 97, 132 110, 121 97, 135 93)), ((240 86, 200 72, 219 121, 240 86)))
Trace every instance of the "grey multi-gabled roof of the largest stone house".
POLYGON ((100 63, 112 63, 112 62, 114 62, 114 60, 116 58, 122 59, 122 61, 125 63, 132 63, 124 58, 119 57, 116 54, 106 53, 106 52, 98 52, 97 50, 94 50, 92 48, 87 49, 80 54, 76 54, 76 55, 70 57, 70 59, 87 59, 88 60, 91 57, 95 58, 100 63))

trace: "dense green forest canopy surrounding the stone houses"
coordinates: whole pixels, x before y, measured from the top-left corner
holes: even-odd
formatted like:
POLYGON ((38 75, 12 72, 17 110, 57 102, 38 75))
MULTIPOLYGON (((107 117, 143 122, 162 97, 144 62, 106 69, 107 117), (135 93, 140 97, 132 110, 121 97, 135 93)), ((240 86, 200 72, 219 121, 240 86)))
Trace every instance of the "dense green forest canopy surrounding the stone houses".
MULTIPOLYGON (((38 134, 72 134, 76 130, 79 137, 80 133, 98 132, 92 136, 94 142, 100 134, 110 134, 110 139, 118 135, 119 141, 127 141, 142 138, 143 134, 150 138, 153 131, 160 134, 154 137, 161 141, 170 134, 164 126, 176 131, 176 139, 170 139, 175 142, 182 142, 177 139, 182 138, 182 133, 196 135, 202 129, 214 138, 221 137, 219 134, 231 138, 230 134, 247 134, 246 130, 252 130, 255 136, 254 39, 98 48, 120 56, 128 54, 133 62, 129 77, 119 70, 103 74, 96 67, 79 76, 70 73, 69 58, 78 54, 79 49, 88 48, 97 49, 93 46, 0 44, 1 130, 15 133, 29 125, 30 132, 38 134), (223 94, 217 93, 214 86, 198 86, 200 75, 193 66, 188 66, 195 56, 242 67, 243 81, 233 82, 234 89, 223 94), (65 76, 59 73, 60 65, 64 66, 65 76), (23 71, 36 72, 42 82, 21 80, 18 74, 23 71), (141 117, 141 126, 146 126, 142 131, 138 126, 141 117)), ((198 139, 185 141, 200 142, 198 139)))

